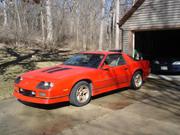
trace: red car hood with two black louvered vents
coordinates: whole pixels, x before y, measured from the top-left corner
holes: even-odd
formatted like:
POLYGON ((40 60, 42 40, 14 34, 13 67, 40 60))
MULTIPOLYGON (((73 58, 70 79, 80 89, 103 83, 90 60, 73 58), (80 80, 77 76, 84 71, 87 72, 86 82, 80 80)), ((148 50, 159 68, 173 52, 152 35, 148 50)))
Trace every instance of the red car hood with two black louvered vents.
POLYGON ((27 72, 22 76, 24 78, 35 79, 35 80, 51 80, 51 79, 63 79, 69 76, 75 76, 81 73, 86 73, 95 70, 93 68, 79 67, 79 66, 67 66, 58 65, 54 67, 48 67, 27 72))

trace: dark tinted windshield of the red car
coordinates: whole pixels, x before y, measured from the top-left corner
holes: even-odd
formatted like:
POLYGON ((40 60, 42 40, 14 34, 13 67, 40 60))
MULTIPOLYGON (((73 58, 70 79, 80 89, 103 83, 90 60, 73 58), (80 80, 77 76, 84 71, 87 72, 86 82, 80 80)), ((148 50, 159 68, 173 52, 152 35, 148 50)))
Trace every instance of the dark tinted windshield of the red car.
POLYGON ((103 57, 101 54, 76 54, 65 61, 64 65, 98 68, 103 57))

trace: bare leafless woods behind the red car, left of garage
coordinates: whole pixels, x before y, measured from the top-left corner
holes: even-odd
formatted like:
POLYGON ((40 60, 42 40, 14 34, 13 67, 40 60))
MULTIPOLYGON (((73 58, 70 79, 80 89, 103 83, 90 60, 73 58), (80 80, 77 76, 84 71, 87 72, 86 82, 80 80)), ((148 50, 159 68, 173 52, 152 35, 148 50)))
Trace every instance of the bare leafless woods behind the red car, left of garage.
POLYGON ((0 42, 13 46, 120 48, 118 21, 133 0, 0 0, 0 42))

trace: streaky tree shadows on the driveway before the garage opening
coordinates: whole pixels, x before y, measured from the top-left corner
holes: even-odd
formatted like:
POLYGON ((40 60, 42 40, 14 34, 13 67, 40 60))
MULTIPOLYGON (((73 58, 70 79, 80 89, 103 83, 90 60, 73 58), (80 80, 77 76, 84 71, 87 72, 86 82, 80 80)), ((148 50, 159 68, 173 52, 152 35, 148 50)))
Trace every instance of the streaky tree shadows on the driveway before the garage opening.
POLYGON ((171 81, 158 77, 149 78, 142 90, 125 93, 123 96, 180 116, 180 77, 179 80, 171 78, 171 81))

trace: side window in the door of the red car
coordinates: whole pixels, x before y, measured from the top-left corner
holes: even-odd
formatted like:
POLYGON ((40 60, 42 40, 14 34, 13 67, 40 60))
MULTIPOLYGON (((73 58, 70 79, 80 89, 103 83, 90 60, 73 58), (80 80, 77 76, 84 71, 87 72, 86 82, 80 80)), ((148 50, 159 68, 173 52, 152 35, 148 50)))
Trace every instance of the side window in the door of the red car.
POLYGON ((111 66, 111 67, 115 67, 118 65, 124 65, 125 64, 125 60, 123 58, 122 55, 119 54, 111 54, 108 55, 106 60, 105 60, 105 64, 111 66))

